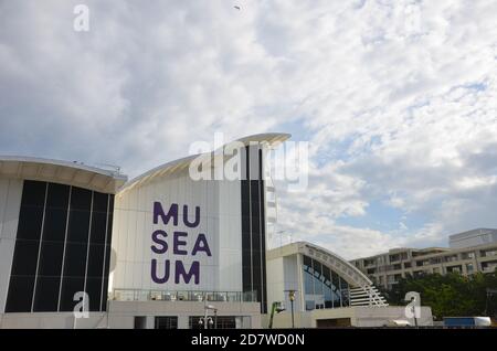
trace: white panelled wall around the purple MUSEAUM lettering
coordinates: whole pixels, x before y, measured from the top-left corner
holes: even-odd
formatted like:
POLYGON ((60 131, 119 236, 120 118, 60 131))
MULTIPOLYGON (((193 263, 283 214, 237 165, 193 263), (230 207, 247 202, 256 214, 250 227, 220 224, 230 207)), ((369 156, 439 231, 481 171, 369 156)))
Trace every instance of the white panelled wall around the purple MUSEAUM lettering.
MULTIPOLYGON (((175 178, 162 178, 142 187, 135 187, 116 195, 114 206, 113 249, 116 252, 115 270, 109 289, 158 289, 158 290, 242 290, 241 243, 241 190, 240 182, 192 181, 188 172, 175 178), (171 203, 179 205, 178 226, 154 224, 154 202, 162 204, 165 213, 171 203), (194 208, 200 206, 200 225, 189 228, 182 223, 183 205, 189 206, 190 221, 194 220, 194 208), (166 254, 151 252, 151 234, 156 230, 167 232, 169 249, 166 254), (188 256, 172 253, 175 231, 188 233, 188 256), (199 233, 207 236, 212 257, 203 253, 192 257, 199 233), (163 260, 171 262, 171 274, 176 259, 184 263, 187 272, 193 260, 200 262, 200 285, 181 283, 176 285, 171 275, 167 284, 151 280, 151 259, 157 258, 159 273, 163 273, 163 260)), ((110 265, 113 267, 113 264, 110 265)))

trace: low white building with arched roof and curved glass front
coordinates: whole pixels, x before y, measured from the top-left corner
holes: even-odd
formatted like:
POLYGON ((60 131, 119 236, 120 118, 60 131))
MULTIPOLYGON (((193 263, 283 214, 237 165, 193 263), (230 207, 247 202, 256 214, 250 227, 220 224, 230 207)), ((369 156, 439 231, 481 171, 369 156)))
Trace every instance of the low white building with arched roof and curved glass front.
MULTIPOLYGON (((372 281, 353 265, 324 247, 298 242, 267 253, 268 301, 285 311, 274 316, 274 328, 382 327, 394 320, 432 326, 429 307, 409 318, 405 307, 391 307, 372 281), (290 299, 294 294, 294 301, 290 299)), ((269 316, 264 323, 268 326, 269 316)))

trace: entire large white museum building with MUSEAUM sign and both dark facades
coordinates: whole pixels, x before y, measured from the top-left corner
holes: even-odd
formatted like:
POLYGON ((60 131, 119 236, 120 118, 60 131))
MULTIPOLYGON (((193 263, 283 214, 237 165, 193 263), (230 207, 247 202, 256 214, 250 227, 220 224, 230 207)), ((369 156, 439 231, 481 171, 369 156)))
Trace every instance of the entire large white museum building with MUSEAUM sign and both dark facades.
POLYGON ((129 182, 77 162, 1 157, 0 328, 260 327, 264 158, 288 137, 251 136, 225 146, 231 156, 187 157, 129 182), (216 178, 233 164, 240 178, 216 178), (88 318, 76 319, 83 305, 88 318))

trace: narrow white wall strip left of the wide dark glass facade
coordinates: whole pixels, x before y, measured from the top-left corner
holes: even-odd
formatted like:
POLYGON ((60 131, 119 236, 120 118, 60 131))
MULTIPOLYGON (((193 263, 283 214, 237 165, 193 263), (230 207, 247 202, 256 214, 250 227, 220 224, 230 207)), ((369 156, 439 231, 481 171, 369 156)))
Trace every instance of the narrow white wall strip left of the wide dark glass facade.
POLYGON ((22 184, 22 180, 0 178, 0 312, 6 309, 9 290, 22 184))

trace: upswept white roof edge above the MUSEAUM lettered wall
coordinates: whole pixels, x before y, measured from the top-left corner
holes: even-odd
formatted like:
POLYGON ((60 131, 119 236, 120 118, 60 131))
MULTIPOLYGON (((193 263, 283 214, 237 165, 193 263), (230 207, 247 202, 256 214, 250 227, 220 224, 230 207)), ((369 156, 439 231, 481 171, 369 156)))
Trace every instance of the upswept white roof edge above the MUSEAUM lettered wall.
MULTIPOLYGON (((251 142, 258 142, 258 143, 267 143, 268 147, 275 147, 279 145, 281 142, 289 139, 292 136, 289 134, 284 132, 266 132, 266 134, 258 134, 253 135, 248 137, 244 137, 234 141, 231 141, 226 143, 225 146, 229 146, 230 143, 234 142, 242 142, 244 145, 250 145, 251 142)), ((225 147, 224 146, 224 147, 225 147)), ((211 155, 213 152, 210 152, 211 155)), ((209 153, 204 153, 209 155, 209 153)), ((152 181, 154 179, 157 179, 159 177, 165 177, 169 174, 173 174, 175 172, 180 172, 184 169, 187 169, 190 166, 190 162, 198 158, 200 155, 192 155, 188 156, 178 160, 173 160, 167 163, 163 163, 159 167, 156 167, 148 172, 145 172, 141 176, 136 177, 135 179, 128 181, 126 184, 123 185, 121 189, 119 189, 119 192, 124 192, 127 190, 130 190, 135 187, 142 185, 145 183, 148 183, 152 181)))

